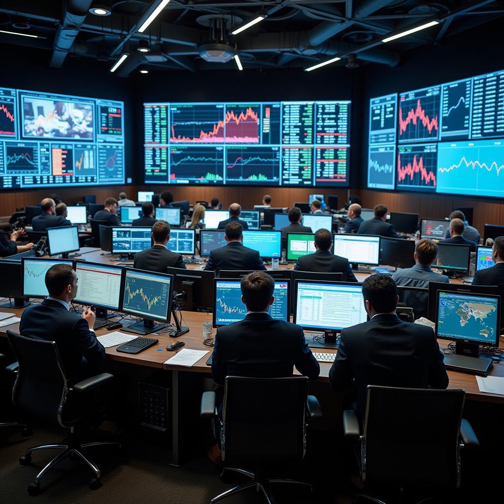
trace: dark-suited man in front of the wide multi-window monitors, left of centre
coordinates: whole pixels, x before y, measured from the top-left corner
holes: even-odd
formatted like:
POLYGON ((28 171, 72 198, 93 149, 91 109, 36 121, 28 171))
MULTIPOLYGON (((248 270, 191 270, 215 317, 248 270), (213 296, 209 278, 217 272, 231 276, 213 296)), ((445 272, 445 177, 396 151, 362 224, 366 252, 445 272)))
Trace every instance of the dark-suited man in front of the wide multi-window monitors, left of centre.
POLYGON ((166 221, 155 221, 152 226, 151 236, 154 245, 135 254, 134 268, 157 271, 158 273, 166 273, 168 266, 185 268, 182 256, 166 248, 166 244, 170 239, 170 225, 166 221))

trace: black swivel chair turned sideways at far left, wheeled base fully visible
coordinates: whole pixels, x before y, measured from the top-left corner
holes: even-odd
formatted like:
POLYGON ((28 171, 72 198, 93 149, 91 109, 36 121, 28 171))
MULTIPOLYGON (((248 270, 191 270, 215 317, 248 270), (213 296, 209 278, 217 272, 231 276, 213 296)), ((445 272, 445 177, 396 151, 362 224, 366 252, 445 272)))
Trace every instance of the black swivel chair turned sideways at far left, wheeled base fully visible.
POLYGON ((67 457, 71 459, 77 457, 85 462, 94 473, 89 487, 93 490, 99 488, 101 486, 100 469, 84 455, 83 450, 105 445, 120 448, 120 444, 112 442, 80 444, 78 430, 91 415, 104 409, 98 406, 96 394, 104 384, 113 380, 113 376, 109 373, 101 373, 71 384, 54 341, 25 338, 9 330, 7 337, 19 364, 12 393, 14 404, 30 416, 36 416, 52 424, 59 424, 70 430, 70 436, 66 442, 34 446, 20 457, 19 463, 26 466, 31 462, 32 453, 36 450, 60 450, 59 454, 37 474, 35 481, 28 485, 28 493, 37 495, 40 492, 42 476, 67 457), (88 395, 90 391, 93 391, 93 397, 88 395))

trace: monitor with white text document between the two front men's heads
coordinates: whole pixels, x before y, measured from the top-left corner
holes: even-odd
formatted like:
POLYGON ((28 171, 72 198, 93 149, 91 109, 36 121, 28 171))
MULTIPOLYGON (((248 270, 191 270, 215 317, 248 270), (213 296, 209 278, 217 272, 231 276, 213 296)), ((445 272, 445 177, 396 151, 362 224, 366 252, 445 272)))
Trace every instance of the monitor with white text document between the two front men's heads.
POLYGON ((366 322, 362 285, 294 281, 294 324, 311 331, 341 331, 366 322))

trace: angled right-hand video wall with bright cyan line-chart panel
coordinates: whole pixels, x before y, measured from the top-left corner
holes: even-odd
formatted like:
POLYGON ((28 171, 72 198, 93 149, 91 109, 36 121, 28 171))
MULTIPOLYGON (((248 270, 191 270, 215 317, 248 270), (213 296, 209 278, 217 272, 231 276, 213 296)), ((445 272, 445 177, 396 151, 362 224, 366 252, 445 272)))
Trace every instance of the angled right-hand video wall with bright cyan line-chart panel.
POLYGON ((504 197, 504 71, 371 98, 367 186, 504 197))

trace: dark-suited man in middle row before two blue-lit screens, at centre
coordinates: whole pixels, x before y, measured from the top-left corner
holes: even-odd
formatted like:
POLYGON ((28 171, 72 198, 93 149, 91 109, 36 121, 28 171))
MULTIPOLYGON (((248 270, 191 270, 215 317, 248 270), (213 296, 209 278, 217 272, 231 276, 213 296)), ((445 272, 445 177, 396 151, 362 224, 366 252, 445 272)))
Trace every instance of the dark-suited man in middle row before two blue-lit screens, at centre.
POLYGON ((266 266, 257 250, 244 247, 243 228, 238 222, 226 226, 226 245, 210 251, 206 270, 263 270, 266 266))

